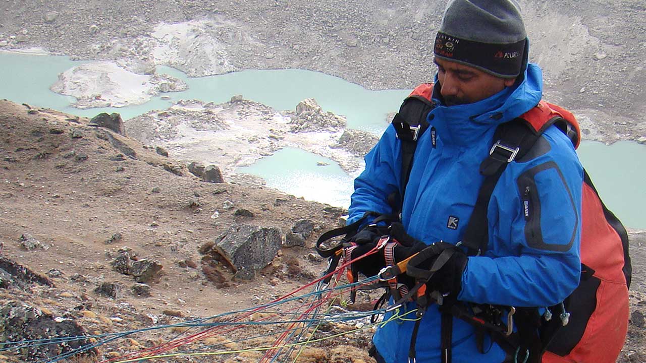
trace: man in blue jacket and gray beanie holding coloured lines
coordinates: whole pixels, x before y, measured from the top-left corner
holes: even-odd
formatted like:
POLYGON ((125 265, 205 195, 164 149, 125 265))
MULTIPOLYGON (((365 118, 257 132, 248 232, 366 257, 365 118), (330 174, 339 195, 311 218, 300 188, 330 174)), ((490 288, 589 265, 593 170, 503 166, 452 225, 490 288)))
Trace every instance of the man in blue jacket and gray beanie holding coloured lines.
MULTIPOLYGON (((536 107, 542 75, 527 63, 525 25, 513 0, 451 0, 434 52, 435 107, 427 118, 433 132, 417 140, 401 223, 425 245, 457 245, 483 183, 479 165, 489 155, 494 132, 536 107)), ((395 134, 391 125, 366 156, 348 223, 366 211, 393 213, 388 196, 402 187, 401 141, 395 134)), ((510 163, 496 184, 487 209, 486 253, 453 258, 431 288, 444 289, 459 302, 546 307, 559 304, 578 285, 583 169, 572 143, 556 127, 546 130, 539 144, 510 163)), ((406 310, 412 309, 415 304, 408 303, 406 310)), ((437 304, 428 307, 415 335, 411 320, 379 327, 373 337, 377 361, 408 362, 413 336, 418 363, 447 361, 437 304)), ((467 322, 453 318, 452 324, 452 362, 513 361, 486 337, 479 349, 482 341, 467 322)))

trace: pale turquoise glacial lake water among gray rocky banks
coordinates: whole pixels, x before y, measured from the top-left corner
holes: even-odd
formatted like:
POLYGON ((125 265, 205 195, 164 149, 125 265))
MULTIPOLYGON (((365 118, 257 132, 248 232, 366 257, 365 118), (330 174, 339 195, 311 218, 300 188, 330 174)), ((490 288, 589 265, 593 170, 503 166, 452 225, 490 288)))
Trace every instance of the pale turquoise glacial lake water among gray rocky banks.
MULTIPOLYGON (((222 103, 231 96, 264 103, 276 110, 294 109, 299 101, 315 98, 324 110, 348 118, 348 127, 380 134, 388 125, 388 112, 396 112, 409 90, 367 90, 343 79, 307 70, 244 70, 220 76, 189 78, 179 70, 158 67, 158 72, 180 78, 189 89, 163 94, 137 106, 80 110, 71 107, 74 98, 49 90, 57 75, 81 64, 63 56, 36 56, 0 52, 0 98, 17 103, 62 110, 92 117, 100 112, 119 112, 124 119, 150 110, 167 109, 179 99, 222 103)), ((604 145, 584 141, 579 158, 603 201, 628 227, 646 229, 646 145, 620 141, 604 145)), ((240 168, 264 178, 267 186, 308 200, 347 207, 352 191, 351 176, 332 160, 300 149, 286 148, 254 165, 240 168)))

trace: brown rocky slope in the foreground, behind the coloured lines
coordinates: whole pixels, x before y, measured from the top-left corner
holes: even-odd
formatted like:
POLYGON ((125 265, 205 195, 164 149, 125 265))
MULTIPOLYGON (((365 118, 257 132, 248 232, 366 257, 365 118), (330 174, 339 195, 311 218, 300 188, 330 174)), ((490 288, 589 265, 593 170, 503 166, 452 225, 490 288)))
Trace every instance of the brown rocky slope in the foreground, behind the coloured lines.
MULTIPOLYGON (((269 302, 324 270, 312 247, 342 211, 262 187, 203 182, 110 120, 0 101, 3 340, 97 336, 205 318, 269 302)), ((632 313, 619 362, 644 362, 646 234, 630 237, 632 313)), ((360 324, 328 324, 319 334, 360 324)), ((136 353, 182 331, 140 333, 94 355, 136 353)), ((352 362, 368 362, 369 337, 370 329, 360 329, 313 344, 298 361, 348 362, 351 352, 352 362)), ((239 349, 233 338, 189 347, 239 349)), ((0 360, 36 362, 74 347, 2 350, 0 360)), ((186 361, 256 362, 257 354, 186 361)))

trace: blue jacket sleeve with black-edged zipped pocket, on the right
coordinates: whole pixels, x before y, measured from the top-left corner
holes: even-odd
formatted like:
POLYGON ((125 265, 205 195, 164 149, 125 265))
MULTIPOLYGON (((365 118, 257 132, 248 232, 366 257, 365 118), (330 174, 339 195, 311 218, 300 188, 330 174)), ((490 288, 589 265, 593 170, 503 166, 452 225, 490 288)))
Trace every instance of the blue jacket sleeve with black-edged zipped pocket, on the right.
POLYGON ((459 300, 553 306, 579 284, 583 168, 573 149, 553 151, 499 180, 488 209, 494 249, 469 257, 459 300))

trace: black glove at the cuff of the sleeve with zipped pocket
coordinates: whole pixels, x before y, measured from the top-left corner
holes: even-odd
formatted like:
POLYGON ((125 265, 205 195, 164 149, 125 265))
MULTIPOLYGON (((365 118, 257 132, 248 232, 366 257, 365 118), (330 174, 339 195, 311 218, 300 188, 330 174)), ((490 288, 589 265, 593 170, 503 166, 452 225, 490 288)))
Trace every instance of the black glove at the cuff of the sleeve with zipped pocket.
POLYGON ((462 275, 468 257, 452 244, 435 242, 413 257, 406 266, 406 275, 426 282, 427 291, 457 296, 462 289, 462 275))

